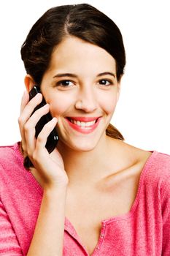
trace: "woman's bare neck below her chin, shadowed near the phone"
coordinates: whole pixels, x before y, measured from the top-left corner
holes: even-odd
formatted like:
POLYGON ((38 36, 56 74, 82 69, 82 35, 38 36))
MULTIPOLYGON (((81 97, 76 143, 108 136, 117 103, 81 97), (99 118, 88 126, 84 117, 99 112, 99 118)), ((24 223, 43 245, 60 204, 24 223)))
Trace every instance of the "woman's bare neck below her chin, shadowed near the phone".
POLYGON ((80 184, 83 186, 96 183, 107 174, 109 175, 111 161, 114 161, 110 155, 116 144, 117 140, 108 136, 91 151, 75 151, 62 143, 58 144, 58 150, 63 157, 64 167, 69 176, 69 183, 75 186, 78 182, 79 186, 80 184))

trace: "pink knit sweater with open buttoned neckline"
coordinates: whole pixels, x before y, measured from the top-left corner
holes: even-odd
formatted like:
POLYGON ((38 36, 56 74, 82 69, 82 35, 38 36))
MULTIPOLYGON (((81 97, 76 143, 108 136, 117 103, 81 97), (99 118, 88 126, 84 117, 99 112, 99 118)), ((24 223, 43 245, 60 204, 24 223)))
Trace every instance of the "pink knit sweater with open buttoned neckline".
MULTIPOLYGON (((42 188, 23 167, 19 144, 0 147, 2 256, 27 254, 42 200, 42 188)), ((69 219, 65 221, 63 255, 88 255, 69 219)), ((152 151, 142 170, 131 211, 101 222, 100 238, 93 252, 93 256, 97 255, 170 255, 169 155, 152 151)))

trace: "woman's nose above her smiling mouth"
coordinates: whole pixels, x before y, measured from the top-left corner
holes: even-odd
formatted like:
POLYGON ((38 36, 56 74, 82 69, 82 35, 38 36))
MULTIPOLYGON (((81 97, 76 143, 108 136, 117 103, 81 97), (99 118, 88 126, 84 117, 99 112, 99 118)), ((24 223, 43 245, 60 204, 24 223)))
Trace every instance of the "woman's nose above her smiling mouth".
POLYGON ((93 89, 83 89, 80 91, 75 103, 77 110, 84 110, 86 113, 91 113, 97 108, 96 95, 93 89))

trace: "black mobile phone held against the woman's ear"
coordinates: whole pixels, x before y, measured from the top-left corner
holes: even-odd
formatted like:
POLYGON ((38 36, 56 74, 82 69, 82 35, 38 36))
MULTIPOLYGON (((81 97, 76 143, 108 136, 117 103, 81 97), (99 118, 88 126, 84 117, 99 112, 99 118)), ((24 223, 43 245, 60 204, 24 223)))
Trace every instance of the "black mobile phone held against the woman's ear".
MULTIPOLYGON (((41 93, 39 86, 34 86, 33 89, 31 89, 31 91, 29 92, 29 100, 31 100, 33 97, 36 96, 36 94, 41 93)), ((45 102, 45 98, 42 98, 42 102, 36 106, 36 108, 34 108, 33 113, 39 109, 42 108, 44 105, 46 105, 45 102)), ((32 114, 33 114, 32 113, 32 114)), ((32 115, 31 114, 31 115, 32 115)), ((39 132, 41 132, 42 128, 45 126, 45 124, 47 124, 47 122, 49 122, 52 119, 52 116, 50 113, 47 113, 46 115, 42 116, 39 121, 36 124, 36 133, 35 133, 35 137, 37 138, 39 135, 39 132)), ((52 132, 50 132, 50 135, 47 138, 47 143, 45 145, 45 147, 47 148, 47 151, 49 152, 49 154, 54 150, 54 148, 57 146, 58 143, 58 133, 56 128, 53 129, 52 132)), ((31 160, 26 157, 26 159, 24 160, 24 166, 26 168, 29 168, 32 165, 31 160)))

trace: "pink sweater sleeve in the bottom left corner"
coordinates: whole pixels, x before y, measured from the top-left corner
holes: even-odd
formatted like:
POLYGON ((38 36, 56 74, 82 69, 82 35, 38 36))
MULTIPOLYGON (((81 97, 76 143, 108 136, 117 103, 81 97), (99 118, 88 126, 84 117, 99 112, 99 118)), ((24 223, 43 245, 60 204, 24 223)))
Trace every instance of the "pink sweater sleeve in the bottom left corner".
POLYGON ((18 244, 18 239, 12 225, 0 201, 0 255, 21 256, 23 255, 18 244))

